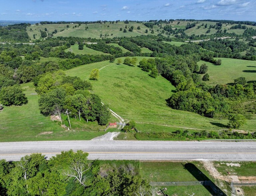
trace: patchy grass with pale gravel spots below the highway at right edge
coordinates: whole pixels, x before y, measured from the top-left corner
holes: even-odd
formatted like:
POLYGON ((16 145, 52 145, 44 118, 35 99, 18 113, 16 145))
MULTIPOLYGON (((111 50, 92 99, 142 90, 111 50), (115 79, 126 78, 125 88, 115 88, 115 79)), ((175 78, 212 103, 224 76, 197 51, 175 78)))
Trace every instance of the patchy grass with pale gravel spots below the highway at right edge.
POLYGON ((237 175, 239 176, 256 176, 256 162, 255 161, 233 161, 233 162, 214 162, 215 168, 222 175, 237 175), (240 164, 238 166, 227 166, 226 164, 240 164), (228 174, 229 172, 230 174, 228 174))

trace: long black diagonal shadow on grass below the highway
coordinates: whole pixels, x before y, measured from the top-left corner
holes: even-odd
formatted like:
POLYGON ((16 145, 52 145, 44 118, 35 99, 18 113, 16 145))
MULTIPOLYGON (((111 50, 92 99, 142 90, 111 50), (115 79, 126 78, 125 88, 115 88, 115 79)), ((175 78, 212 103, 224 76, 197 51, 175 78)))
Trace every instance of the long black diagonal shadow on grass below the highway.
POLYGON ((210 181, 215 187, 215 191, 211 186, 205 186, 205 188, 212 194, 218 196, 227 196, 216 184, 214 184, 203 172, 201 172, 194 164, 186 163, 184 168, 188 170, 198 181, 210 181))

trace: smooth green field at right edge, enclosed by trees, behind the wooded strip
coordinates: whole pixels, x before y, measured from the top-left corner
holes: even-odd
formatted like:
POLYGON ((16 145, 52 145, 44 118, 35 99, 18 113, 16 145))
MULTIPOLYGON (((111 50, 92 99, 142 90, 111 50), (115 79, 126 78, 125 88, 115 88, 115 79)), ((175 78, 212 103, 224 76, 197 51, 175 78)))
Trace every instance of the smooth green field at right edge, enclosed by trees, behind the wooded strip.
MULTIPOLYGON (((245 77, 247 81, 256 81, 256 61, 241 59, 215 58, 221 59, 221 65, 214 65, 206 61, 199 61, 199 67, 205 63, 208 65, 210 80, 207 84, 228 84, 233 83, 236 78, 245 77)), ((201 74, 202 77, 204 74, 201 74)))

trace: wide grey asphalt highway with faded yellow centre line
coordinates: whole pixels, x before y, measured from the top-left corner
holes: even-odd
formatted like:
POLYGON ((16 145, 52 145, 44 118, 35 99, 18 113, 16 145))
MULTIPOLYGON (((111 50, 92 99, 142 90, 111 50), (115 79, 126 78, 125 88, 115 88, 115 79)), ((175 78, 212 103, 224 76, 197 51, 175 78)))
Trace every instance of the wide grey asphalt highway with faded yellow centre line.
POLYGON ((18 161, 31 153, 48 157, 83 150, 89 159, 256 161, 256 142, 221 141, 40 141, 2 142, 0 159, 18 161))

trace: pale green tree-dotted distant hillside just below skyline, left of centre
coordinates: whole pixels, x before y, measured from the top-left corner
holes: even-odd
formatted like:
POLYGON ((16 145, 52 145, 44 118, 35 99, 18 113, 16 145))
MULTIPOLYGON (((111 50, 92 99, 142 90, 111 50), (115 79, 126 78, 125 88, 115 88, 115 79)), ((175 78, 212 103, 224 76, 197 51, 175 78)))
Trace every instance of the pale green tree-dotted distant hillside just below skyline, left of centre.
MULTIPOLYGON (((52 31, 54 31, 55 29, 58 31, 56 34, 53 34, 54 37, 58 37, 58 36, 63 36, 63 37, 84 37, 84 38, 100 38, 100 34, 102 34, 102 36, 104 37, 105 34, 109 35, 107 36, 108 38, 113 38, 113 37, 135 37, 137 35, 147 35, 150 33, 145 33, 145 30, 149 28, 146 27, 145 25, 143 25, 142 23, 136 23, 136 22, 129 22, 129 24, 127 24, 127 32, 124 33, 123 31, 120 31, 120 28, 124 29, 125 28, 124 22, 118 22, 117 24, 114 22, 114 24, 109 24, 109 23, 95 23, 95 24, 81 24, 81 26, 78 26, 78 24, 44 24, 44 25, 33 25, 30 27, 27 27, 27 32, 28 35, 30 37, 31 40, 34 40, 33 38, 33 34, 37 34, 36 35, 36 39, 40 38, 40 30, 44 31, 45 28, 47 28, 47 34, 51 33, 52 31), (69 25, 69 28, 67 28, 66 26, 69 25), (77 25, 76 28, 73 28, 73 26, 77 25), (109 26, 109 27, 108 27, 109 26), (128 31, 128 28, 133 26, 133 32, 128 31), (137 27, 140 26, 140 30, 137 29, 137 27), (87 30, 86 27, 88 27, 87 30), (32 29, 32 31, 30 31, 30 28, 32 29), (60 30, 64 29, 64 31, 60 32, 60 30), (113 35, 111 35, 113 34, 113 35)), ((154 30, 155 30, 155 34, 156 30, 159 27, 154 25, 154 30)))

